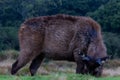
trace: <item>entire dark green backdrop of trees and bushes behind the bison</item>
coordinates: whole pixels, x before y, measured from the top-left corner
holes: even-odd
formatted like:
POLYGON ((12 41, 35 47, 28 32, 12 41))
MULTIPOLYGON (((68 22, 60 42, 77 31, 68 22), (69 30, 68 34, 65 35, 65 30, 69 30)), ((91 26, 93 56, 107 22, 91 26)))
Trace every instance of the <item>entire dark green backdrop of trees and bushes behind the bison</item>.
POLYGON ((58 13, 94 18, 108 54, 120 57, 120 0, 0 0, 0 51, 19 50, 17 33, 25 19, 58 13))

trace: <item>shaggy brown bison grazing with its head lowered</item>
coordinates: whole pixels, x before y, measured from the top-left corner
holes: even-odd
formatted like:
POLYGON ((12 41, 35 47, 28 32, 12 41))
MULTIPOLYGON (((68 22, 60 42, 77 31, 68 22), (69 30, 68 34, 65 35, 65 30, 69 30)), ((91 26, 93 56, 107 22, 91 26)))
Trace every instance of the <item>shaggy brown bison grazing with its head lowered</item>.
POLYGON ((107 57, 100 25, 89 17, 58 14, 26 20, 19 30, 20 54, 15 74, 30 60, 33 76, 43 59, 74 61, 76 73, 100 76, 107 57))

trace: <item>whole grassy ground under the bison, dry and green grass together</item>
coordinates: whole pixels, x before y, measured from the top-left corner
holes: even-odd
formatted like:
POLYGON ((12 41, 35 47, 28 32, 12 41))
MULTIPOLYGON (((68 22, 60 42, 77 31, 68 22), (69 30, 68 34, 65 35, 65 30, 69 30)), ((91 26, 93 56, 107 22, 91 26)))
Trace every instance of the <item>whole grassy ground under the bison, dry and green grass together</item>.
POLYGON ((120 61, 112 60, 106 64, 101 78, 75 74, 76 64, 67 61, 45 61, 31 77, 29 64, 22 68, 16 76, 10 75, 11 65, 16 59, 16 51, 0 53, 0 80, 120 80, 120 61), (4 54, 6 53, 6 54, 4 54))

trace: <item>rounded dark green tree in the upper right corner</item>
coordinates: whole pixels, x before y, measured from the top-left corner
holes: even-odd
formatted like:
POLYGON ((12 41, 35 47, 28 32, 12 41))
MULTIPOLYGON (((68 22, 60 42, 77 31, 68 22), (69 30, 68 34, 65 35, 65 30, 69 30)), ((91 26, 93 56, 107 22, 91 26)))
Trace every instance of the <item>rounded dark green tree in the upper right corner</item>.
POLYGON ((97 20, 104 31, 119 33, 120 30, 120 0, 110 0, 89 16, 97 20))

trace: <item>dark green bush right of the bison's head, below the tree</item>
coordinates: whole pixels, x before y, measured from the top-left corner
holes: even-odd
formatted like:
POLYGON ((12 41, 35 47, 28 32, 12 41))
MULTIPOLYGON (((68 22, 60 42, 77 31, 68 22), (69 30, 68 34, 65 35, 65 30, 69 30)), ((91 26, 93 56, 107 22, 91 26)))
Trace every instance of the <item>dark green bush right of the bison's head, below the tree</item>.
POLYGON ((113 57, 120 57, 120 36, 114 33, 104 33, 104 41, 107 46, 107 53, 113 55, 113 57))

